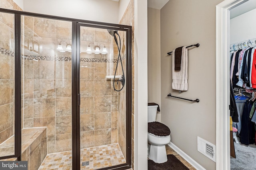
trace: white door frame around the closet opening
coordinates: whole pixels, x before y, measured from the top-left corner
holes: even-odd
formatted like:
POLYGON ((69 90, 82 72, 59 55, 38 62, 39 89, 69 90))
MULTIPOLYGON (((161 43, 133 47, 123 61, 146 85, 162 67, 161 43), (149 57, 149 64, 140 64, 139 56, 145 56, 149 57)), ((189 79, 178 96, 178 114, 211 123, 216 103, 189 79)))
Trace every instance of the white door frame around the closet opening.
POLYGON ((230 170, 230 9, 246 1, 216 6, 216 170, 230 170))

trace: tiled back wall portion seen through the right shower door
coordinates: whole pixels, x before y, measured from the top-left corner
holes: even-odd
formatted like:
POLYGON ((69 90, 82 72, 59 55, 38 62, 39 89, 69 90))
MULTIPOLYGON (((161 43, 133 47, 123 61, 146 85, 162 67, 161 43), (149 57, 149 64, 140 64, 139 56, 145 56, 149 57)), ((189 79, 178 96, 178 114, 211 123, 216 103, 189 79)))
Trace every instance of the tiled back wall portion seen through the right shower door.
POLYGON ((118 93, 106 80, 116 66, 113 37, 106 29, 81 27, 80 32, 81 148, 117 143, 118 93), (105 45, 108 54, 87 54, 89 43, 92 49, 99 45, 102 50, 105 45))

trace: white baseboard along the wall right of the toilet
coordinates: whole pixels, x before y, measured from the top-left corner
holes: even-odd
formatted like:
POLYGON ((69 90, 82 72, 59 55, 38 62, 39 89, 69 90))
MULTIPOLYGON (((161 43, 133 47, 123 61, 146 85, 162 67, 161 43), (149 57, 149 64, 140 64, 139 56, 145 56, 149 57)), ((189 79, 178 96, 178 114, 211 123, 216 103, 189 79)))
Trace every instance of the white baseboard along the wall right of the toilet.
POLYGON ((171 147, 177 154, 179 154, 182 158, 184 158, 190 165, 192 165, 197 170, 206 170, 204 167, 202 167, 200 164, 198 164, 194 159, 192 159, 190 156, 188 156, 185 152, 183 152, 181 149, 179 149, 176 145, 174 145, 172 142, 167 144, 169 147, 171 147))

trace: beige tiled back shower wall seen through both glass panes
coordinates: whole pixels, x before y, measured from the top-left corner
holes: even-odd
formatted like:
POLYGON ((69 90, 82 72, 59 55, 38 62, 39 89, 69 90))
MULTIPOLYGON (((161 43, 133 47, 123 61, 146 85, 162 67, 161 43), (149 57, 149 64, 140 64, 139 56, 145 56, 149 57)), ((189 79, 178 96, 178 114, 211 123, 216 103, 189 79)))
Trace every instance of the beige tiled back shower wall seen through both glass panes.
MULTIPOLYGON (((24 127, 47 127, 48 153, 72 149, 71 53, 56 50, 71 45, 71 29, 67 21, 24 18, 24 127)), ((116 64, 112 37, 82 27, 80 38, 81 148, 117 143, 118 93, 106 80, 116 64), (89 43, 109 53, 87 54, 89 43)))

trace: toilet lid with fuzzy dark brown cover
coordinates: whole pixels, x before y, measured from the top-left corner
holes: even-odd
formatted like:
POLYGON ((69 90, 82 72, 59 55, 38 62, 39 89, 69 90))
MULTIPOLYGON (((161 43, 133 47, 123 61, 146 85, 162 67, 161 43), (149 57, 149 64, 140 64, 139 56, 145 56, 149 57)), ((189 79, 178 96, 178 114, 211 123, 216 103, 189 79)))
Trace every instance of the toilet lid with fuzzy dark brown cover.
POLYGON ((168 136, 171 131, 169 127, 158 121, 148 122, 148 133, 156 136, 168 136))

